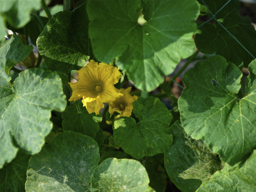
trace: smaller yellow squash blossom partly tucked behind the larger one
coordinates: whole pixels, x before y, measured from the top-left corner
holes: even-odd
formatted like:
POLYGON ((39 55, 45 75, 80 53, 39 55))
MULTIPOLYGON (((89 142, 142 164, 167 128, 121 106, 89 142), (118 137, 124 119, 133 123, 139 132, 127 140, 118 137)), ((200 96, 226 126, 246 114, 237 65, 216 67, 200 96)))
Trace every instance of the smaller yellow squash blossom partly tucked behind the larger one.
POLYGON ((133 106, 132 103, 138 99, 138 96, 132 96, 130 94, 132 87, 127 89, 121 89, 123 97, 118 98, 112 104, 109 103, 109 113, 112 115, 114 111, 120 113, 121 116, 130 117, 132 114, 133 106))

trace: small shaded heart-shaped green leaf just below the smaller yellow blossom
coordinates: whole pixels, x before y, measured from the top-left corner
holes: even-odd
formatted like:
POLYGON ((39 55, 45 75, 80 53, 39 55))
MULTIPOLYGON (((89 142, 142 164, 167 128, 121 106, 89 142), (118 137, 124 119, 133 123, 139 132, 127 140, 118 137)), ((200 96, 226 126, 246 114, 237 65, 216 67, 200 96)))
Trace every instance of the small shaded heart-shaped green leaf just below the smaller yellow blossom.
POLYGON ((172 144, 169 129, 173 116, 156 97, 139 97, 133 102, 133 113, 140 122, 131 117, 121 117, 114 123, 114 141, 124 152, 134 158, 164 153, 172 144))

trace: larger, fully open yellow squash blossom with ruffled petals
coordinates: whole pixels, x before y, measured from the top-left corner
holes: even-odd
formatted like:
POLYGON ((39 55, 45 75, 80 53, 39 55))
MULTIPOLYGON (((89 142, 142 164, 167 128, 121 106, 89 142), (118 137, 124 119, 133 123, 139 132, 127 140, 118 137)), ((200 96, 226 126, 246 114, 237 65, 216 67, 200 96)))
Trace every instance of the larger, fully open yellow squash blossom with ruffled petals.
POLYGON ((83 98, 82 103, 88 113, 100 114, 100 110, 104 108, 103 103, 112 103, 123 96, 120 90, 114 87, 121 78, 121 73, 116 67, 91 60, 77 73, 78 82, 69 83, 73 90, 69 101, 83 98))

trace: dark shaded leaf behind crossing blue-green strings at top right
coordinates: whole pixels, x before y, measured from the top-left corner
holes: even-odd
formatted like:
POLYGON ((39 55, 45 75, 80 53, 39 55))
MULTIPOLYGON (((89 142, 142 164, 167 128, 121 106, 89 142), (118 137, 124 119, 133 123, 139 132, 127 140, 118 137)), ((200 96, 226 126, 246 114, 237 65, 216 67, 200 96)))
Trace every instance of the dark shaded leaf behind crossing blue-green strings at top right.
MULTIPOLYGON (((201 15, 212 17, 202 1, 201 15)), ((212 14, 215 14, 227 1, 205 0, 212 14)), ((239 14, 240 3, 233 0, 228 3, 216 15, 216 19, 254 56, 256 57, 256 31, 249 17, 241 17, 239 14)), ((214 19, 213 19, 214 20, 214 19)), ((198 23, 200 26, 202 23, 198 23)), ((214 20, 214 25, 206 23, 198 28, 195 36, 197 49, 204 54, 221 55, 237 66, 242 62, 248 68, 253 57, 214 20)))

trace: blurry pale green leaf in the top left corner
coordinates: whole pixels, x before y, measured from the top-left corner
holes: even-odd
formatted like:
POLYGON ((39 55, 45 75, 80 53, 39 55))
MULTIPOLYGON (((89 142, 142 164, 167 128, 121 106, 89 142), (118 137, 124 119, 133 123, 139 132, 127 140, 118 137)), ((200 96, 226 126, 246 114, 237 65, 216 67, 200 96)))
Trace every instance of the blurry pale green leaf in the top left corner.
POLYGON ((5 19, 13 27, 21 28, 30 21, 30 12, 40 8, 40 1, 0 1, 0 39, 6 35, 5 19))

